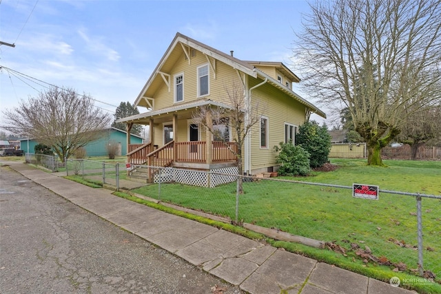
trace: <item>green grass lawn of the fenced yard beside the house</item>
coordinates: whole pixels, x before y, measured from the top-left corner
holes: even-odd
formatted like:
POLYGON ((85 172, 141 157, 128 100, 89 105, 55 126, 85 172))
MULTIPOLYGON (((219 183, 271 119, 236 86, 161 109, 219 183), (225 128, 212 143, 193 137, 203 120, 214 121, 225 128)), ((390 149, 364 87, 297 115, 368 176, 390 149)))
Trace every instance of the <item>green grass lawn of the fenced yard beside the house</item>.
MULTIPOLYGON (((335 159, 331 163, 339 168, 314 172, 305 178, 278 179, 345 186, 361 183, 378 185, 383 190, 441 194, 441 162, 384 160, 388 167, 370 167, 366 160, 353 159, 335 159)), ((332 260, 353 271, 371 271, 371 275, 380 275, 383 280, 398 275, 391 271, 394 266, 363 262, 352 247, 364 250, 368 246, 371 254, 383 262, 401 262, 407 271, 417 269, 415 197, 380 193, 379 200, 367 200, 353 198, 350 189, 271 179, 245 182, 244 191, 238 208, 239 219, 244 222, 322 240, 347 251, 347 257, 336 253, 331 258, 329 252, 322 251, 313 253, 314 258, 332 260), (376 271, 380 273, 373 273, 376 271)), ((236 183, 211 189, 181 184, 150 185, 134 192, 232 219, 235 215, 236 183)), ((424 269, 441 282, 441 200, 422 199, 422 222, 424 269)), ((294 251, 309 251, 295 247, 294 251)), ((438 289, 441 292, 441 287, 438 289)))

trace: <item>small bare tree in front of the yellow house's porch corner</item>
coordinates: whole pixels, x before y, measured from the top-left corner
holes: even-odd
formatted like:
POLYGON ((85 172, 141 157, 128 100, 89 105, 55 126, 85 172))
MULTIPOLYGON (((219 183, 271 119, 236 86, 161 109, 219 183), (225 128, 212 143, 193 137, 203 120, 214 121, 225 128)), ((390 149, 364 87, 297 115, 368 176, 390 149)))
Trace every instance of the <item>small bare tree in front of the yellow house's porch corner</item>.
MULTIPOLYGON (((203 106, 193 113, 194 123, 206 127, 214 140, 222 142, 236 156, 238 174, 243 175, 243 147, 245 138, 251 134, 253 126, 260 123, 258 103, 250 105, 246 101, 243 86, 232 82, 224 87, 227 107, 203 106), (229 145, 228 128, 232 128, 232 141, 229 145)), ((243 193, 242 178, 238 179, 238 191, 243 193)))

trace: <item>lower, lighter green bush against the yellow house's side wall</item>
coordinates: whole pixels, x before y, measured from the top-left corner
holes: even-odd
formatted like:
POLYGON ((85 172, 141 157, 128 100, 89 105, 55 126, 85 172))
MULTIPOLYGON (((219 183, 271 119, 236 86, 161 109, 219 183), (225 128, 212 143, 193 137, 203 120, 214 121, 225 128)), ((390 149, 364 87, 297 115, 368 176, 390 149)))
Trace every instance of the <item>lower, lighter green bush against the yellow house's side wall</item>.
POLYGON ((309 153, 300 145, 280 142, 274 149, 279 152, 277 162, 280 163, 280 176, 307 176, 311 173, 309 153))

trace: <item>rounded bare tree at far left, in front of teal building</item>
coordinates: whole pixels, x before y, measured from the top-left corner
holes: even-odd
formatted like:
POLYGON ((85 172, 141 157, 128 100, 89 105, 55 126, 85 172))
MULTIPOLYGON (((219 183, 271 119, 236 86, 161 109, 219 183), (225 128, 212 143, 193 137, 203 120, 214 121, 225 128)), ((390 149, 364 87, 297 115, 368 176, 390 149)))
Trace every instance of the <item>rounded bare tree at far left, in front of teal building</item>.
POLYGON ((90 96, 52 87, 21 101, 19 107, 3 112, 5 129, 52 147, 59 158, 69 158, 76 149, 104 134, 111 116, 94 107, 90 96))

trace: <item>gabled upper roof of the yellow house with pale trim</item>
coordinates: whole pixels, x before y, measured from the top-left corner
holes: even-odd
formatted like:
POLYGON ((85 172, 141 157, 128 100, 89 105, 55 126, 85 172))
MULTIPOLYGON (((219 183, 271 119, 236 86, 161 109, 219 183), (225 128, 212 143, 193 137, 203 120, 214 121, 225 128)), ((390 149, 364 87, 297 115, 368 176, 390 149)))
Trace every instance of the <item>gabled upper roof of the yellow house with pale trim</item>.
MULTIPOLYGON (((216 60, 221 61, 227 65, 230 65, 234 69, 240 70, 241 72, 244 72, 245 74, 247 74, 249 76, 252 76, 254 78, 260 77, 263 79, 267 78, 267 80, 269 81, 269 83, 271 85, 274 85, 279 90, 282 90, 283 92, 285 92, 286 94, 288 94, 289 96, 294 98, 296 101, 309 107, 312 112, 318 114, 319 116, 322 116, 323 118, 326 118, 326 114, 324 112, 322 112, 320 109, 318 109, 318 107, 316 107, 312 103, 309 103, 304 98, 302 98, 298 94, 296 94, 294 91, 292 91, 288 87, 285 87, 285 85, 280 84, 274 78, 272 78, 268 74, 265 74, 265 72, 258 70, 254 66, 254 65, 263 65, 263 66, 272 65, 272 66, 277 67, 278 70, 280 70, 280 72, 283 72, 283 74, 285 74, 287 76, 291 76, 294 81, 296 81, 296 80, 300 81, 300 78, 298 78, 298 76, 296 76, 293 72, 291 72, 291 70, 289 70, 288 67, 283 65, 283 63, 269 62, 269 61, 265 61, 265 62, 264 61, 241 61, 240 59, 236 59, 231 54, 225 54, 224 52, 220 52, 219 50, 216 50, 208 45, 205 45, 205 44, 203 44, 199 41, 196 41, 192 38, 189 38, 188 36, 185 36, 179 32, 176 33, 176 36, 174 37, 172 43, 169 45, 169 47, 165 51, 165 54, 161 58, 161 61, 159 61, 158 65, 156 65, 156 68, 154 69, 152 75, 147 80, 147 83, 145 83, 143 90, 141 90, 138 97, 136 98, 136 101, 134 103, 135 106, 138 106, 140 104, 146 104, 145 101, 143 101, 143 97, 145 97, 147 90, 150 89, 150 86, 152 86, 152 84, 154 83, 156 78, 161 78, 161 73, 163 70, 164 70, 164 72, 167 72, 168 70, 170 70, 170 71, 172 70, 171 68, 168 68, 168 67, 172 66, 170 64, 174 64, 174 62, 171 62, 169 64, 169 63, 167 63, 167 61, 169 61, 169 59, 177 58, 172 53, 174 51, 174 48, 176 48, 176 46, 178 46, 180 43, 183 46, 187 46, 189 48, 194 48, 200 52, 203 52, 203 54, 206 54, 207 56, 210 56, 213 59, 216 59, 216 60)), ((148 97, 148 95, 147 95, 146 98, 150 98, 150 97, 148 97)), ((146 106, 146 105, 142 105, 142 106, 146 106)), ((171 108, 174 108, 174 107, 171 107, 171 108)), ((156 112, 169 112, 171 108, 158 110, 156 112)), ((141 118, 141 116, 143 118, 145 118, 145 117, 151 116, 151 115, 148 114, 148 112, 145 112, 143 114, 139 114, 138 116, 139 116, 139 118, 141 118)), ((133 118, 133 116, 130 116, 130 118, 133 118)), ((136 118, 136 119, 138 119, 138 118, 136 118)), ((127 120, 126 118, 122 118, 122 119, 118 120, 118 122, 127 122, 127 121, 132 121, 132 119, 127 120)))

